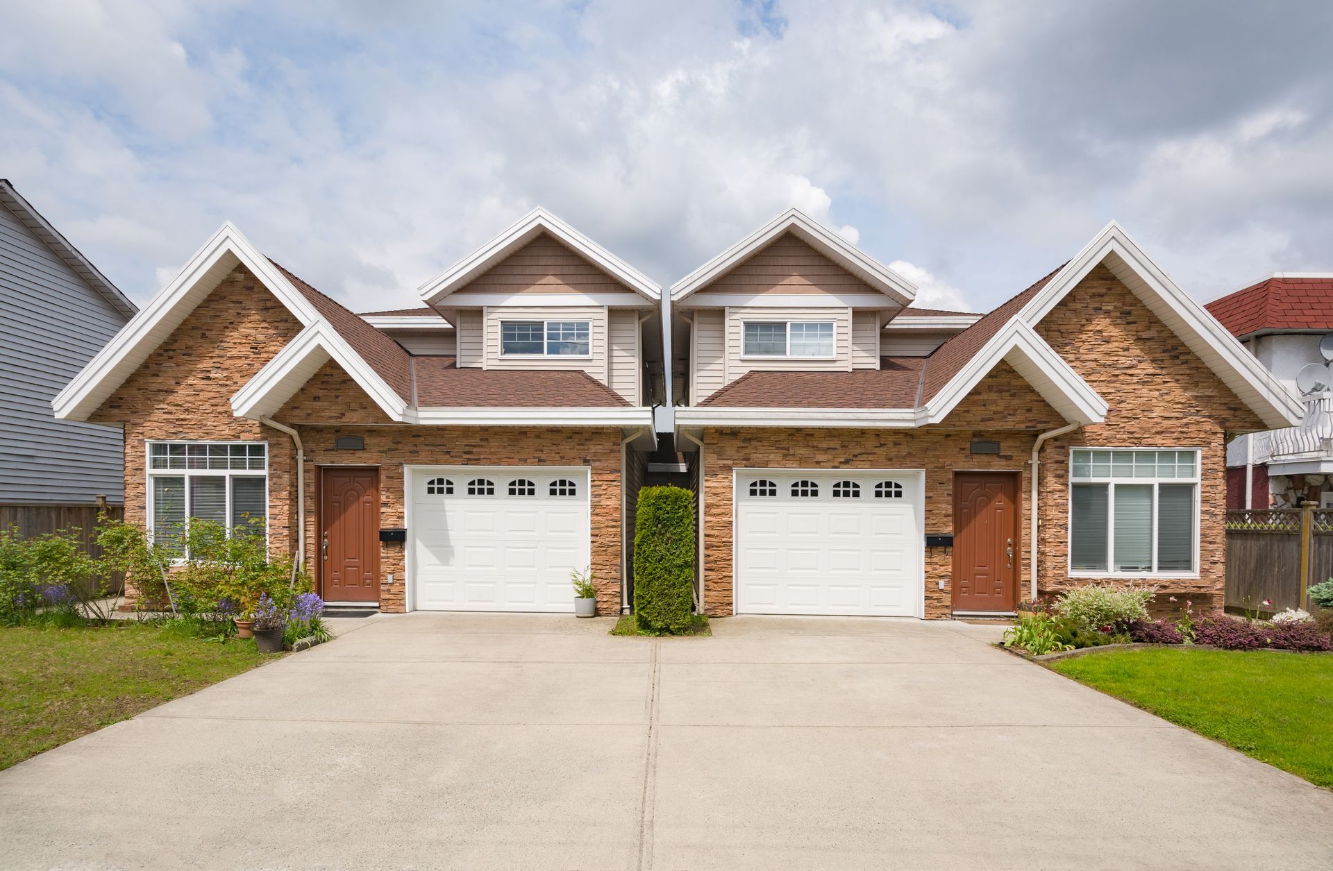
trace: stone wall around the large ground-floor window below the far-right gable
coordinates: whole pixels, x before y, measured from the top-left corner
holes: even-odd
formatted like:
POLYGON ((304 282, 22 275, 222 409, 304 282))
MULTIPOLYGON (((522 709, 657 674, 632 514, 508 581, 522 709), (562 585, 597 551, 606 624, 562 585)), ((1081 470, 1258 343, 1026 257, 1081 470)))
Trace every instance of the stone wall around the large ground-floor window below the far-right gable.
MULTIPOLYGON (((1037 325, 1037 333, 1106 400, 1106 422, 1042 447, 1038 581, 1069 578, 1069 447, 1201 447, 1200 577, 1156 581, 1197 609, 1222 606, 1226 432, 1265 429, 1109 269, 1098 266, 1037 325)), ((1158 599, 1165 599, 1165 595, 1158 599)))

